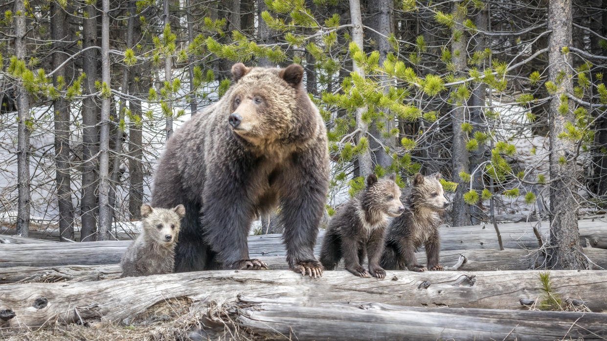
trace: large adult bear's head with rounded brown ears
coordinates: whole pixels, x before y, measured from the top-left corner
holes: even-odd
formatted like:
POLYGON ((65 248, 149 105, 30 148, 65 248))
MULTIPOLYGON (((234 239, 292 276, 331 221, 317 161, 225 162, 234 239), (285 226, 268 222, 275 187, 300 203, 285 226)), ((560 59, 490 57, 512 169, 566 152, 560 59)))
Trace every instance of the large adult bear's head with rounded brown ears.
POLYGON ((313 135, 318 114, 302 85, 299 64, 277 69, 238 63, 232 76, 226 124, 234 133, 256 145, 297 143, 313 135))

